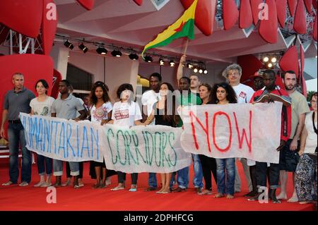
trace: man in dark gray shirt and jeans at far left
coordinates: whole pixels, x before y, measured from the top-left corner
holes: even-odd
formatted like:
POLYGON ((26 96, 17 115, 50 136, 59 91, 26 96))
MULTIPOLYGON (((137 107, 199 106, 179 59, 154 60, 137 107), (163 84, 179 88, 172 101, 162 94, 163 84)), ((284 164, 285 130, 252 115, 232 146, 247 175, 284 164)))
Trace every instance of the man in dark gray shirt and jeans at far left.
POLYGON ((10 186, 18 183, 19 144, 22 152, 21 183, 20 186, 28 186, 31 181, 31 152, 25 147, 24 129, 20 121, 20 112, 30 113, 30 101, 35 97, 33 92, 23 87, 24 78, 22 73, 15 73, 12 76, 13 90, 6 92, 4 97, 4 111, 0 135, 4 137, 4 124, 8 120, 8 142, 9 142, 9 176, 10 180, 2 186, 10 186))

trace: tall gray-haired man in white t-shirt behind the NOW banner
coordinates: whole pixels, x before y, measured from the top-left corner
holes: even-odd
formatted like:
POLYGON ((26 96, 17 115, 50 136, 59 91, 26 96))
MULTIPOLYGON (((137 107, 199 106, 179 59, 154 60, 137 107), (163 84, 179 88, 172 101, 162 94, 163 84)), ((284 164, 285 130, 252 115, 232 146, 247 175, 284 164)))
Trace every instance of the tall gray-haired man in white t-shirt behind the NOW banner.
MULTIPOLYGON (((235 90, 236 96, 237 96, 237 103, 248 103, 249 100, 254 95, 254 90, 252 87, 249 87, 247 85, 243 85, 240 83, 240 79, 242 76, 242 68, 240 65, 237 65, 236 63, 231 64, 222 73, 223 77, 225 77, 232 88, 235 90)), ((244 174, 247 180, 249 191, 252 190, 252 181, 251 177, 249 175, 249 166, 247 166, 247 159, 240 159, 240 162, 242 163, 244 174)), ((237 172, 237 166, 235 164, 235 192, 241 191, 241 179, 240 175, 237 172)))

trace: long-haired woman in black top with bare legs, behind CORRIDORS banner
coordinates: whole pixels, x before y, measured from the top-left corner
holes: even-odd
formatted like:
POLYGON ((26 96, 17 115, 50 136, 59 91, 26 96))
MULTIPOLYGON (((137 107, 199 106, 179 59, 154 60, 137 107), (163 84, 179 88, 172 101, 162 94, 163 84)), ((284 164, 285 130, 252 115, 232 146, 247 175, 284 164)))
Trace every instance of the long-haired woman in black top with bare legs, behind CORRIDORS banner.
MULTIPOLYGON (((145 125, 152 123, 155 118, 155 125, 176 127, 178 116, 175 114, 175 98, 172 95, 174 89, 170 83, 162 83, 160 85, 160 99, 153 104, 153 111, 145 121, 145 125)), ((162 187, 158 194, 170 193, 170 180, 172 173, 160 174, 162 187)))

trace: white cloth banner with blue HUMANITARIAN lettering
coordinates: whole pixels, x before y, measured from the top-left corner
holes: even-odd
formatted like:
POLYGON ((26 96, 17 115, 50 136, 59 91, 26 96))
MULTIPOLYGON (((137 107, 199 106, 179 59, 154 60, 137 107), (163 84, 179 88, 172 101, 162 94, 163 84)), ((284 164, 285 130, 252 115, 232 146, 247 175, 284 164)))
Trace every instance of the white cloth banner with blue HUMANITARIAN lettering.
POLYGON ((67 121, 20 113, 28 150, 68 162, 102 162, 102 127, 90 121, 67 121))

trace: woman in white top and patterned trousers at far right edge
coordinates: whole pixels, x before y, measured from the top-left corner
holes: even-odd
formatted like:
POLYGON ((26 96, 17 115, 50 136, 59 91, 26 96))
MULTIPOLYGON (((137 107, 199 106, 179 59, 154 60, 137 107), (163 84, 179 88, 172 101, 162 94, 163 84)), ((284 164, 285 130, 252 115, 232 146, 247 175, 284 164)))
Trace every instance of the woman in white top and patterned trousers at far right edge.
POLYGON ((300 159, 295 171, 295 188, 300 204, 317 202, 317 92, 312 95, 310 104, 313 111, 305 118, 298 152, 300 159))

